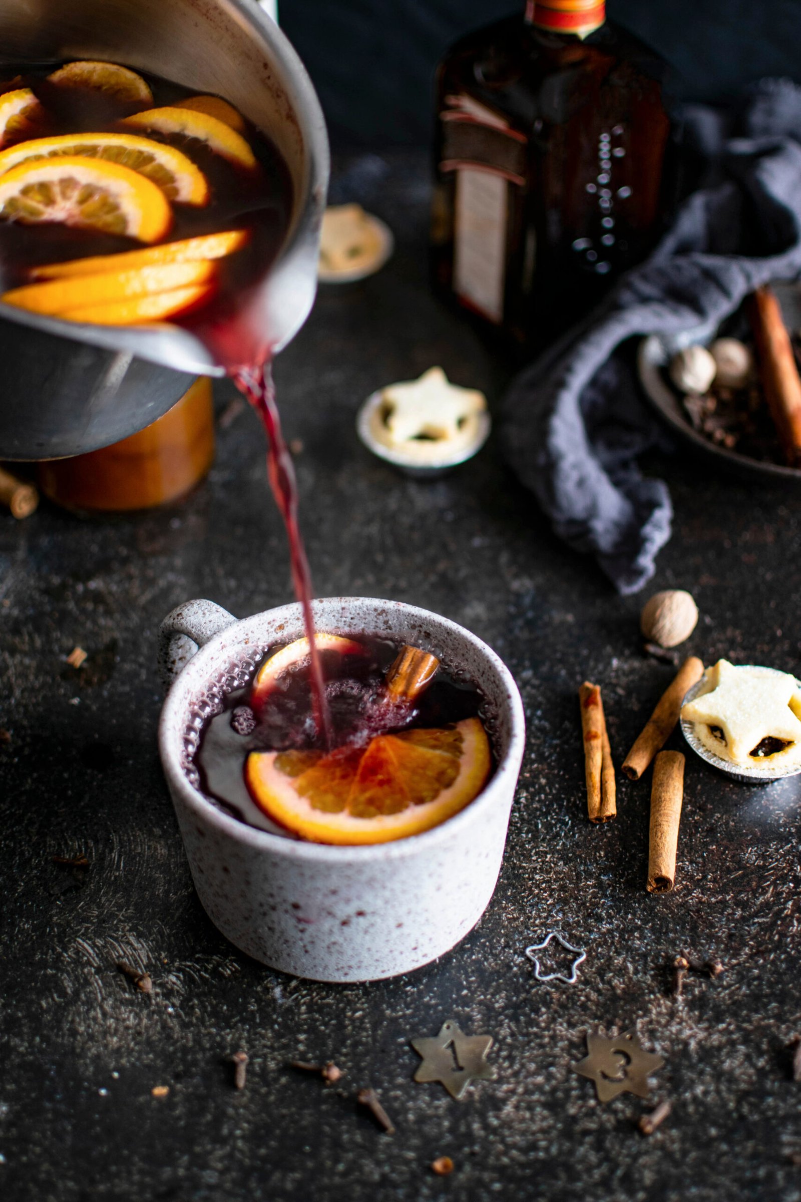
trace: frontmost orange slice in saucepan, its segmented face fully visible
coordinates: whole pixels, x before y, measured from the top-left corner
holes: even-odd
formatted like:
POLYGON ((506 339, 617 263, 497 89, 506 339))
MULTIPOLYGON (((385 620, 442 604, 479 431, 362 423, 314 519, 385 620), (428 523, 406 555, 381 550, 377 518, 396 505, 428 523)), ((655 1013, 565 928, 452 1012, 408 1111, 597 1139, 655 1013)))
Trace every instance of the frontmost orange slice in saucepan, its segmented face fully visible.
POLYGON ((172 225, 162 190, 130 167, 65 155, 22 162, 0 177, 0 218, 65 225, 159 242, 172 225))

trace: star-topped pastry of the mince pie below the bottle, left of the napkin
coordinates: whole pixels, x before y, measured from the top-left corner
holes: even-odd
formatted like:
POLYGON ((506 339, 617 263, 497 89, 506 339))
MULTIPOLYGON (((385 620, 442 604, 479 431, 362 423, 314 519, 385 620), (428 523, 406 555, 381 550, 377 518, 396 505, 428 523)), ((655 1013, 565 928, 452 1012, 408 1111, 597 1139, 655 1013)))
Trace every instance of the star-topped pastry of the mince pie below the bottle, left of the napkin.
POLYGON ((442 368, 389 385, 381 401, 371 423, 376 440, 423 462, 470 446, 480 434, 479 418, 486 410, 483 392, 450 383, 442 368))

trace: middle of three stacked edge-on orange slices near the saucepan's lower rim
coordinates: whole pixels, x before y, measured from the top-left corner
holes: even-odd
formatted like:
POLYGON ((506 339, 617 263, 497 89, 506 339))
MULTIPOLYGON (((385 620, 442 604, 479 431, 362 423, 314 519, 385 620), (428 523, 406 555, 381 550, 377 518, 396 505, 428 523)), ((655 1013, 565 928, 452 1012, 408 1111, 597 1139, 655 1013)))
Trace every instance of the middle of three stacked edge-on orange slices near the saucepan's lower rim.
MULTIPOLYGON (((60 317, 86 305, 113 304, 137 297, 171 292, 198 284, 208 285, 216 275, 216 263, 171 263, 166 267, 139 267, 133 272, 98 272, 43 284, 25 284, 4 292, 6 304, 60 317)), ((113 325, 113 322, 112 322, 113 325)))

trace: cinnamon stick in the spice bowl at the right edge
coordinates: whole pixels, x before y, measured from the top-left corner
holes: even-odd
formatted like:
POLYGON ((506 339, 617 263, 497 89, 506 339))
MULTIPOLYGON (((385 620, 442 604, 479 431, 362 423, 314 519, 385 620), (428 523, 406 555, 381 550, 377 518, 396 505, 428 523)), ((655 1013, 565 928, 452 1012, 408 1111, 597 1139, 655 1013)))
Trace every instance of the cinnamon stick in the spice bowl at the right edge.
POLYGON ((748 303, 757 343, 759 379, 773 424, 791 468, 801 466, 801 377, 782 309, 769 287, 757 288, 748 303))

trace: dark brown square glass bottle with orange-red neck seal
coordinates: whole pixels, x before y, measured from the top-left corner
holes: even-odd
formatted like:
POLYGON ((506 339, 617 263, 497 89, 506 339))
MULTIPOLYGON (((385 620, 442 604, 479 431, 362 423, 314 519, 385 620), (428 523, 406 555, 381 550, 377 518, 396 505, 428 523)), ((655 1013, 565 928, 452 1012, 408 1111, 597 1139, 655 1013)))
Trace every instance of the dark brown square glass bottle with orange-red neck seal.
POLYGON ((671 208, 666 65, 604 18, 530 0, 437 72, 435 284, 526 346, 597 303, 671 208))

